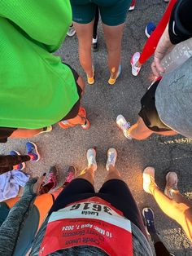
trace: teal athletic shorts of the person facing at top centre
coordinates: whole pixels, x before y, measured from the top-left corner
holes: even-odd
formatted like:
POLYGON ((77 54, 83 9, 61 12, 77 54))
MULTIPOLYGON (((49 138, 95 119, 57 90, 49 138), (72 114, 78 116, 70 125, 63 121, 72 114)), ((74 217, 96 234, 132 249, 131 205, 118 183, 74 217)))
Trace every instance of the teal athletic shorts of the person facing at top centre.
POLYGON ((98 6, 103 24, 117 26, 126 20, 131 0, 71 0, 72 20, 88 24, 94 20, 98 6))

